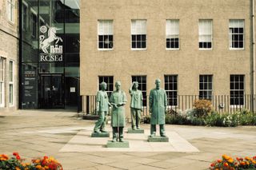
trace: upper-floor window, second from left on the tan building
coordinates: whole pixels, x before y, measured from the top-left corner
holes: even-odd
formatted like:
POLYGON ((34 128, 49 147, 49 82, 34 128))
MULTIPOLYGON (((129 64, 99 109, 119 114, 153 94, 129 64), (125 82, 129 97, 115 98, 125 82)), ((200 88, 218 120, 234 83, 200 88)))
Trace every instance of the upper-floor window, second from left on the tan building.
POLYGON ((131 20, 131 48, 146 49, 146 20, 131 20))

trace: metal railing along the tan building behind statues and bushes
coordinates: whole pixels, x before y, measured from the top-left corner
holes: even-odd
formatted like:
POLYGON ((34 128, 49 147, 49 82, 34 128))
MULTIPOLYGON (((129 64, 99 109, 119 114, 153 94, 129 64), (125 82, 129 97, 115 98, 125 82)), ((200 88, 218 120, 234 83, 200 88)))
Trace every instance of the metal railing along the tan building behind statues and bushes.
MULTIPOLYGON (((147 96, 148 98, 148 96, 147 96)), ((184 112, 187 109, 193 109, 194 101, 200 99, 198 95, 178 95, 175 103, 177 105, 169 105, 168 110, 172 109, 176 113, 184 112)), ((241 111, 242 109, 249 110, 251 112, 256 111, 256 95, 246 94, 239 97, 239 105, 230 104, 230 95, 215 95, 211 98, 211 104, 214 111, 218 113, 234 113, 241 111), (241 101, 242 98, 242 101, 241 101)), ((148 101, 147 101, 148 102, 148 101)), ((170 103, 170 102, 168 102, 170 103)), ((173 103, 173 102, 172 102, 173 103)), ((142 116, 149 115, 148 103, 146 106, 143 106, 142 116)), ((130 112, 130 110, 129 110, 130 112)), ((82 113, 85 114, 96 114, 96 96, 82 96, 82 113)), ((127 111, 126 111, 127 113, 127 111)))

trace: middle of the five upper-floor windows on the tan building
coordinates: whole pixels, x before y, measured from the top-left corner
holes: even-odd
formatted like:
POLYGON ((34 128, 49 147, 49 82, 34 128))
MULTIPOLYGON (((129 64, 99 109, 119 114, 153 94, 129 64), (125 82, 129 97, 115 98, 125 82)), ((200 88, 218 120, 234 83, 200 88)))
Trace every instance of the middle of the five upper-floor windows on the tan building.
POLYGON ((179 21, 166 20, 166 49, 179 49, 179 21))

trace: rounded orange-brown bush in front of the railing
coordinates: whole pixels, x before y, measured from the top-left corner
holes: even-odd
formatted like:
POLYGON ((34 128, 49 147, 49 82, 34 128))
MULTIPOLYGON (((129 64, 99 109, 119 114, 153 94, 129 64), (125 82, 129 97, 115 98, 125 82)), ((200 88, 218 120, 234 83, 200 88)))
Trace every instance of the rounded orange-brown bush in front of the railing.
POLYGON ((195 100, 193 107, 196 117, 206 117, 212 111, 212 104, 209 100, 195 100))

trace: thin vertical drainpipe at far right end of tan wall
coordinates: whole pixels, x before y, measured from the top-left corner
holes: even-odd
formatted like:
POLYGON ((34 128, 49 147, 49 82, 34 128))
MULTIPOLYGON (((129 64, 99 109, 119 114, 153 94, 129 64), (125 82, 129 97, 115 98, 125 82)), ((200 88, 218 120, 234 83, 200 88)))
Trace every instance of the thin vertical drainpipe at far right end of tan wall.
POLYGON ((255 102, 255 1, 252 0, 252 7, 251 7, 251 10, 252 10, 252 45, 253 45, 253 48, 252 48, 252 53, 253 53, 253 91, 252 91, 252 94, 253 94, 253 110, 255 111, 255 105, 256 105, 256 102, 255 102))

